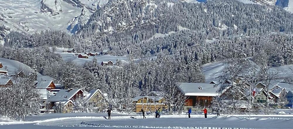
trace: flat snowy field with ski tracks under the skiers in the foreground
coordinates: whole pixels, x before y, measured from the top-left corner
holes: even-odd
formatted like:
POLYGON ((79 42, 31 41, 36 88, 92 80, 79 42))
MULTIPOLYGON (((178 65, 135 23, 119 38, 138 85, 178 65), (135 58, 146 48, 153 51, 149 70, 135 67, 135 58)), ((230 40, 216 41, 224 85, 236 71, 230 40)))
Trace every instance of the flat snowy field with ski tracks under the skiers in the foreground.
POLYGON ((160 119, 154 115, 147 115, 142 119, 139 114, 130 115, 113 113, 111 120, 103 116, 106 113, 67 113, 45 114, 41 116, 28 116, 25 122, 10 121, 0 117, 1 129, 112 129, 112 128, 176 128, 176 129, 292 129, 293 115, 162 115, 160 119))

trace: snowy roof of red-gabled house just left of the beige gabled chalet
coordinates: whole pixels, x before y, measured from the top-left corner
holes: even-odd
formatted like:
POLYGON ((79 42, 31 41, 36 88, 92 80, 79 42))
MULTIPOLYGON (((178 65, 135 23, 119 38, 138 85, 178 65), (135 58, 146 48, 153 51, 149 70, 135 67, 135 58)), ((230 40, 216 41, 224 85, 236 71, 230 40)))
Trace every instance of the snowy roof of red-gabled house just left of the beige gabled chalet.
POLYGON ((74 95, 76 95, 77 92, 83 91, 81 89, 72 89, 68 92, 68 90, 60 90, 55 95, 50 96, 48 99, 48 102, 58 102, 62 100, 70 100, 74 95))

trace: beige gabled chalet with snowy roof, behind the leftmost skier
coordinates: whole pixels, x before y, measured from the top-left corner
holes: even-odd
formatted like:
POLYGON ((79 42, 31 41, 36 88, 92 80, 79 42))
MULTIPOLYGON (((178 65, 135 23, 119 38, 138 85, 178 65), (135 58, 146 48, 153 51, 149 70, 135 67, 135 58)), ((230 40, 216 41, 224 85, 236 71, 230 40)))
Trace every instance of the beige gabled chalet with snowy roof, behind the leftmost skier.
POLYGON ((84 93, 84 97, 86 102, 95 104, 95 107, 99 107, 100 110, 106 109, 109 106, 105 95, 99 89, 93 89, 84 93))

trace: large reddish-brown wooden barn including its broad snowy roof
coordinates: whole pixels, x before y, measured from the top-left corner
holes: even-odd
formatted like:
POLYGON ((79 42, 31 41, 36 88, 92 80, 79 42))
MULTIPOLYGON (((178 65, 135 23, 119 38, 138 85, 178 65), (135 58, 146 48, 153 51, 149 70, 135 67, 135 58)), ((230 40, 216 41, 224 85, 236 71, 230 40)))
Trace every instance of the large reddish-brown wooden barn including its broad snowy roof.
POLYGON ((180 83, 178 88, 188 97, 184 110, 195 108, 196 105, 200 108, 208 108, 211 105, 212 98, 218 95, 219 87, 209 83, 180 83))

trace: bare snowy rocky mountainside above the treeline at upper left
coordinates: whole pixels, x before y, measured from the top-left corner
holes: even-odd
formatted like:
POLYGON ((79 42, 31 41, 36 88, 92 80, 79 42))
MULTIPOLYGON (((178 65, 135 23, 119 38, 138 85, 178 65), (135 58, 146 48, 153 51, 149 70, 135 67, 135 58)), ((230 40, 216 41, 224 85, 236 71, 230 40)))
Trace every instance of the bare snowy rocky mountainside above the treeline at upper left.
POLYGON ((77 23, 86 23, 97 6, 107 2, 108 0, 0 1, 0 35, 4 37, 11 31, 33 33, 47 29, 69 32, 77 23))

